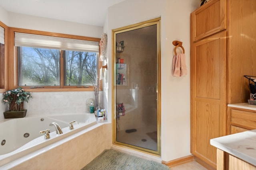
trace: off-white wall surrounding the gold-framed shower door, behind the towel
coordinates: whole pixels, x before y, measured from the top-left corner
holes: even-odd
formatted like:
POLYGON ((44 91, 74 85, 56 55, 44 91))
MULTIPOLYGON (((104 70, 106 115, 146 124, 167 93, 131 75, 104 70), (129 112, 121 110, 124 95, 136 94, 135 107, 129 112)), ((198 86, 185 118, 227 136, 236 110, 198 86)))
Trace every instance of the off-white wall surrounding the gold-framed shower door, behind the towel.
MULTIPOLYGON (((112 29, 161 17, 161 157, 164 161, 190 155, 190 13, 198 0, 126 0, 108 10, 108 37, 112 29), (171 75, 174 46, 183 42, 188 75, 171 75)), ((104 27, 104 30, 106 29, 104 27)), ((108 38, 108 65, 112 68, 112 39, 108 38)), ((112 94, 112 70, 108 94, 112 94)), ((108 96, 108 112, 112 96, 108 96)))

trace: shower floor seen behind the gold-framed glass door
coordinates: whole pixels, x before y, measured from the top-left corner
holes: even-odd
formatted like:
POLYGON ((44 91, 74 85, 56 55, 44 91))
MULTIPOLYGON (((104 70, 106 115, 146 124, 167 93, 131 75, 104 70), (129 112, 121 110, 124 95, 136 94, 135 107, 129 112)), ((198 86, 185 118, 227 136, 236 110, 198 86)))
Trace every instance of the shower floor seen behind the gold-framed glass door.
POLYGON ((116 133, 116 141, 157 151, 157 142, 147 135, 147 133, 156 131, 156 127, 148 126, 134 129, 137 131, 132 133, 126 133, 125 131, 127 129, 118 131, 116 133), (144 139, 146 139, 146 141, 144 139))

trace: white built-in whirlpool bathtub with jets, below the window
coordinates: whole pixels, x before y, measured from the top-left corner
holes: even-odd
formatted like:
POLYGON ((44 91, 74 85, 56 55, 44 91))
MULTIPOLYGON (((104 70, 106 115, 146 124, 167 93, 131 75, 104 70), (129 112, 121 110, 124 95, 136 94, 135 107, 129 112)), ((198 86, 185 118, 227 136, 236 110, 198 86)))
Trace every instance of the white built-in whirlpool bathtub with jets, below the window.
POLYGON ((0 166, 56 143, 96 123, 94 114, 90 113, 40 115, 1 120, 0 166), (72 130, 69 129, 69 122, 71 121, 76 121, 73 123, 74 129, 72 130), (52 122, 60 125, 62 134, 56 134, 54 126, 49 126, 52 122), (50 139, 44 139, 44 133, 39 133, 46 129, 50 129, 50 139))

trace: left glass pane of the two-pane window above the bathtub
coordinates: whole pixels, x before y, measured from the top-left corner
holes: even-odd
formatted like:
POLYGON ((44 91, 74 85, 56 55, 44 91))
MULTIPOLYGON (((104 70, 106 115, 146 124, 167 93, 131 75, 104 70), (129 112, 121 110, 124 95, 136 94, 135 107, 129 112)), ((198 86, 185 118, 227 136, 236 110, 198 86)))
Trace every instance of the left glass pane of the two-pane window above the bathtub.
POLYGON ((60 50, 18 47, 18 86, 60 86, 60 50))

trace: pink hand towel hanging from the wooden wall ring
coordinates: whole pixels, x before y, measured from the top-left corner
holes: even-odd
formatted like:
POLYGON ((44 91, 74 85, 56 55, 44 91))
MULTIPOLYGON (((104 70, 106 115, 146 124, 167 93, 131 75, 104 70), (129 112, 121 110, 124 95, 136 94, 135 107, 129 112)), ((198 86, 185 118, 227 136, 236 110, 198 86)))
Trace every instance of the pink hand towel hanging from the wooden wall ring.
POLYGON ((172 76, 180 77, 187 75, 185 54, 174 55, 172 59, 172 76))

